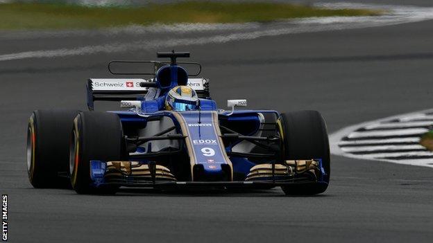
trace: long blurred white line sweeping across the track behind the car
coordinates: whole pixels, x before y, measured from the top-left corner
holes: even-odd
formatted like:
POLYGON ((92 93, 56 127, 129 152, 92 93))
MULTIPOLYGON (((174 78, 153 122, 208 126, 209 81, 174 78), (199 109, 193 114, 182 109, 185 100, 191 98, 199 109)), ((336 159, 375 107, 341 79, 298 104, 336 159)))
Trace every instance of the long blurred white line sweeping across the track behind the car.
MULTIPOLYGON (((348 6, 347 4, 328 4, 328 7, 348 6)), ((0 55, 0 61, 22 60, 26 58, 42 58, 42 57, 65 57, 71 55, 91 55, 96 53, 118 53, 125 51, 139 51, 151 48, 185 46, 194 44, 219 44, 233 42, 246 39, 257 39, 260 37, 272 37, 278 35, 288 35, 294 33, 310 33, 327 30, 344 30, 352 28, 367 28, 375 26, 389 26, 395 24, 411 23, 416 21, 425 21, 433 19, 433 8, 417 8, 403 6, 373 6, 373 5, 350 5, 352 7, 362 8, 384 8, 389 10, 389 15, 372 16, 372 17, 321 17, 321 18, 306 18, 292 21, 281 21, 270 25, 260 25, 257 23, 247 23, 246 27, 257 25, 257 28, 266 28, 265 30, 248 30, 243 33, 231 33, 212 35, 209 37, 182 38, 182 39, 151 39, 146 41, 136 41, 129 43, 113 43, 95 46, 81 46, 77 48, 60 48, 56 50, 41 50, 41 51, 26 51, 22 53, 10 53, 0 55), (273 26, 268 29, 265 26, 273 26), (273 29, 272 29, 273 28, 273 29)), ((209 28, 208 26, 206 28, 209 28)), ((214 30, 224 26, 215 27, 214 30)), ((191 30, 194 30, 190 26, 191 30)), ((136 38, 138 39, 138 38, 136 38)))

